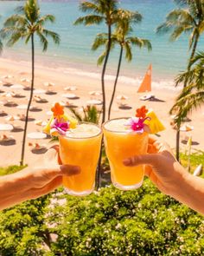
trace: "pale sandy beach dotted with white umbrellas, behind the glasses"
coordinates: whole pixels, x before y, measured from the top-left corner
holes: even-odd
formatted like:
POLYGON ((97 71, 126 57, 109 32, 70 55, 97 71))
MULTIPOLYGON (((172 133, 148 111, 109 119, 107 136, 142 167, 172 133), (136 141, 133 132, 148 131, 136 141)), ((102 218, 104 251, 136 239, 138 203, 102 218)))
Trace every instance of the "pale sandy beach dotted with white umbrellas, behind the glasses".
MULTIPOLYGON (((6 100, 10 100, 12 102, 16 102, 18 105, 27 104, 29 99, 29 91, 23 89, 10 89, 9 86, 5 86, 6 83, 12 84, 23 84, 29 85, 29 82, 22 82, 22 78, 31 78, 31 67, 29 62, 13 62, 7 59, 0 59, 0 89, 4 92, 14 91, 16 93, 21 93, 25 95, 24 98, 7 98, 3 96, 3 93, 0 93, 0 110, 5 111, 8 115, 22 115, 25 114, 26 110, 18 109, 16 107, 6 107, 3 106, 3 102, 6 100), (4 75, 10 75, 12 77, 3 78, 4 75)), ((48 121, 49 116, 47 112, 50 110, 52 104, 54 102, 68 101, 78 106, 79 109, 82 106, 86 106, 86 102, 90 100, 89 92, 92 90, 99 90, 100 88, 100 80, 98 77, 89 77, 86 75, 80 74, 72 74, 72 72, 63 72, 61 69, 49 69, 47 67, 36 66, 35 67, 35 89, 47 89, 44 85, 44 82, 54 82, 54 91, 57 92, 56 95, 44 95, 42 94, 42 98, 47 99, 47 103, 38 103, 33 102, 32 106, 41 108, 41 111, 38 112, 30 112, 30 117, 34 120, 29 121, 28 133, 30 132, 41 132, 42 128, 35 124, 35 121, 42 120, 48 121), (68 92, 65 90, 68 86, 76 86, 77 90, 73 92, 68 92), (74 93, 78 96, 77 99, 67 100, 63 98, 62 95, 66 93, 74 93)), ((107 81, 105 83, 106 86, 106 95, 107 102, 110 100, 110 95, 112 93, 112 81, 107 81)), ((166 130, 163 131, 161 135, 161 139, 167 141, 171 148, 175 148, 175 130, 170 126, 171 118, 169 116, 169 109, 173 105, 175 101, 175 96, 178 91, 165 89, 165 87, 158 89, 153 88, 152 94, 155 95, 155 101, 145 101, 142 102, 139 100, 141 94, 137 94, 139 84, 128 84, 127 82, 120 81, 118 82, 118 89, 116 95, 126 95, 128 99, 126 103, 130 108, 127 109, 119 109, 118 101, 115 100, 112 106, 112 117, 122 117, 122 116, 132 116, 135 115, 136 108, 141 107, 142 105, 146 105, 147 108, 153 108, 156 112, 156 115, 159 117, 161 121, 163 121, 166 130)), ((69 111, 66 108, 67 112, 69 111)), ((10 123, 15 127, 23 128, 24 121, 16 120, 16 121, 7 121, 7 116, 0 116, 0 123, 10 123)), ((197 111, 194 111, 192 115, 189 116, 191 121, 188 122, 189 125, 194 127, 193 131, 190 132, 182 132, 181 133, 181 141, 184 140, 188 136, 192 136, 193 139, 193 148, 194 150, 203 150, 204 149, 204 137, 201 136, 203 132, 203 121, 204 121, 204 108, 201 108, 197 111)), ((21 156, 21 147, 22 147, 22 131, 21 129, 16 130, 16 132, 0 132, 0 135, 12 135, 15 140, 15 145, 5 146, 0 145, 0 166, 8 166, 13 164, 19 164, 20 156, 21 156)), ((45 145, 45 147, 49 148, 50 139, 43 140, 31 140, 27 138, 26 141, 26 154, 25 154, 25 163, 30 164, 33 161, 36 161, 39 157, 43 158, 43 154, 34 154, 31 152, 29 147, 29 142, 31 143, 39 143, 41 145, 45 145)), ((186 148, 184 143, 181 143, 182 149, 186 148)))

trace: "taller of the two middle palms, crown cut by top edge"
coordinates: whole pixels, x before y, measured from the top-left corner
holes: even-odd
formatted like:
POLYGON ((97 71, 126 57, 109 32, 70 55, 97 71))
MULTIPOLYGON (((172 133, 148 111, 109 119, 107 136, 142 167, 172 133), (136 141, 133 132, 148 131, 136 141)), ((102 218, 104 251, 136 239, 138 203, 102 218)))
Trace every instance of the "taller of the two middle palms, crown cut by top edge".
POLYGON ((105 60, 101 74, 101 89, 103 93, 102 123, 105 121, 105 70, 112 45, 112 25, 116 23, 118 0, 92 0, 92 2, 80 3, 80 10, 88 13, 75 21, 75 25, 86 26, 105 23, 108 29, 108 43, 106 44, 105 60))

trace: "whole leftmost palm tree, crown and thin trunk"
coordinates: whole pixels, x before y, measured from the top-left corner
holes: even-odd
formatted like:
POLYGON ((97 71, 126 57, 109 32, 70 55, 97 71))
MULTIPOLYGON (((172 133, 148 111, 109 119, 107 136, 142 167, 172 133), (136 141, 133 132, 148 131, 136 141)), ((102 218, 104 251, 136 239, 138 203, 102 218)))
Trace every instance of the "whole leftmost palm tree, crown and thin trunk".
POLYGON ((60 43, 60 36, 51 30, 46 30, 44 24, 47 22, 54 23, 53 15, 41 16, 40 8, 37 0, 27 0, 22 8, 19 9, 19 13, 10 16, 3 24, 3 30, 1 30, 1 36, 3 38, 9 38, 7 45, 13 46, 20 39, 25 43, 31 41, 31 60, 32 60, 32 79, 31 90, 29 96, 29 104, 26 112, 26 120, 22 139, 22 155, 20 164, 23 165, 26 133, 29 120, 29 108, 33 98, 34 90, 34 78, 35 78, 35 35, 40 39, 42 50, 48 49, 48 39, 51 37, 54 43, 60 43))

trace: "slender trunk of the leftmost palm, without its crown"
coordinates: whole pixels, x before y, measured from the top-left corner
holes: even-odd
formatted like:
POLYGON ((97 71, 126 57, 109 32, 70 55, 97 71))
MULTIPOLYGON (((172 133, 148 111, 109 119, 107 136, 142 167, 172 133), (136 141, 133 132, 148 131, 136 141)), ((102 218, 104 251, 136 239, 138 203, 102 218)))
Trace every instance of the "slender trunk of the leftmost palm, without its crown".
POLYGON ((23 132, 23 139, 22 139, 22 157, 20 164, 23 165, 24 161, 24 154, 25 154, 25 143, 26 143, 26 134, 27 134, 27 128, 28 128, 28 121, 29 121, 29 108, 33 99, 33 90, 34 90, 34 63, 35 63, 35 49, 34 49, 34 34, 31 35, 31 54, 32 54, 32 79, 31 79, 31 89, 30 89, 30 95, 29 95, 29 104, 26 111, 26 120, 24 125, 24 132, 23 132))

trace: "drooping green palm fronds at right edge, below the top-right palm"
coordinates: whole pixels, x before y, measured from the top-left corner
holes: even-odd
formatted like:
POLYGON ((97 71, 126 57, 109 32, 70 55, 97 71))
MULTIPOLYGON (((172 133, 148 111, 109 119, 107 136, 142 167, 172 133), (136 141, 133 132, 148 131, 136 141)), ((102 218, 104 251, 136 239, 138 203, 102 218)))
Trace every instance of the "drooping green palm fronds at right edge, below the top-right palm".
POLYGON ((178 75, 176 84, 187 81, 187 87, 176 98, 170 114, 176 113, 175 122, 180 126, 182 121, 194 109, 204 103, 204 51, 195 54, 191 60, 191 69, 178 75))

